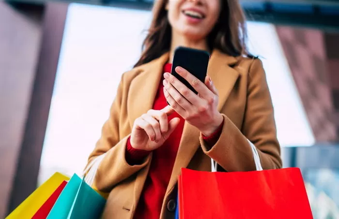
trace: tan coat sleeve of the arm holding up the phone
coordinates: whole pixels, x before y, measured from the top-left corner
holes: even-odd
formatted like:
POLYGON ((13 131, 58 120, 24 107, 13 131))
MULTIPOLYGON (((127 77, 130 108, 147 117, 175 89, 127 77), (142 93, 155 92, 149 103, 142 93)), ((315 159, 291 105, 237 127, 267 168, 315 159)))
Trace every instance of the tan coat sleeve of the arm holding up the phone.
POLYGON ((260 59, 255 59, 248 73, 247 103, 242 131, 225 115, 223 129, 211 148, 200 136, 206 155, 226 171, 256 170, 250 143, 259 153, 263 169, 281 168, 280 146, 271 95, 260 59))

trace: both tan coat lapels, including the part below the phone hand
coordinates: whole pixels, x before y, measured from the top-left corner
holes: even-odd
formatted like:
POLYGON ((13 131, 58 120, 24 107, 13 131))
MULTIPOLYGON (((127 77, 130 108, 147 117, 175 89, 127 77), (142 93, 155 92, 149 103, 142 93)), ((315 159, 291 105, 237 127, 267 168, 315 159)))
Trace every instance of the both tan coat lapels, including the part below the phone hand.
MULTIPOLYGON (((149 109, 152 109, 162 76, 163 66, 168 60, 169 54, 166 53, 160 58, 154 59, 153 61, 138 67, 139 74, 131 82, 127 100, 127 110, 131 126, 133 126, 136 118, 147 113, 149 109)), ((214 50, 211 55, 207 73, 211 76, 211 79, 219 92, 219 111, 226 102, 240 75, 239 72, 231 67, 237 62, 238 58, 228 56, 219 50, 214 50)), ((188 166, 199 148, 199 137, 200 131, 185 122, 167 193, 175 186, 181 168, 188 166)))

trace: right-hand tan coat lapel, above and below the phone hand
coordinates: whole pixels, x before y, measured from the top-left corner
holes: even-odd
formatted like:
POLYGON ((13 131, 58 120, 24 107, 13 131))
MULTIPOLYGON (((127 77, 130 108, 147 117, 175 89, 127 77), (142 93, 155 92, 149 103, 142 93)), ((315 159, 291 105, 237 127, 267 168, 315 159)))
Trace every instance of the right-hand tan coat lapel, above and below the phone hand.
MULTIPOLYGON (((236 80, 239 77, 239 73, 232 67, 230 67, 236 62, 236 58, 225 55, 218 50, 213 51, 211 59, 209 61, 207 73, 211 76, 211 79, 219 92, 219 111, 226 102, 236 80)), ((200 131, 196 127, 185 122, 183 135, 181 137, 181 142, 179 145, 176 160, 174 162, 174 167, 166 194, 168 194, 176 185, 178 176, 181 173, 181 168, 185 168, 188 166, 192 157, 199 148, 199 137, 200 131)))

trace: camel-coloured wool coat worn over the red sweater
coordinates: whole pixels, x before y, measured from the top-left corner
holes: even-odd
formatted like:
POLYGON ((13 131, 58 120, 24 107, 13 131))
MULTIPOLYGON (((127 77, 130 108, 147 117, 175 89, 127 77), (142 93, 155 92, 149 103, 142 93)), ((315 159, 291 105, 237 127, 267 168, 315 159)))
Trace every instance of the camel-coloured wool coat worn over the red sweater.
MULTIPOLYGON (((134 120, 152 108, 168 54, 123 74, 117 96, 89 163, 105 154, 93 186, 109 192, 104 218, 131 219, 142 191, 152 154, 141 165, 130 166, 125 147, 134 120)), ((183 136, 162 204, 161 219, 174 218, 168 203, 176 199, 180 169, 210 171, 211 158, 218 170, 252 171, 255 163, 249 142, 258 149, 263 169, 281 167, 271 96, 259 59, 230 57, 215 50, 208 74, 219 91, 218 110, 224 119, 219 140, 208 150, 200 131, 185 122, 183 136)), ((206 185, 208 186, 208 185, 206 185)))

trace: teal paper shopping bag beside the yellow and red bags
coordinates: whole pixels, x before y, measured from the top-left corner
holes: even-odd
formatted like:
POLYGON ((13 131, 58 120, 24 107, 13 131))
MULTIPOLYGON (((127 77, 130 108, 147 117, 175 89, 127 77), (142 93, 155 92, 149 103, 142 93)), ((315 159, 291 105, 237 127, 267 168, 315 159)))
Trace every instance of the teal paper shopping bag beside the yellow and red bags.
POLYGON ((62 190, 47 219, 98 219, 106 200, 74 174, 62 190))

